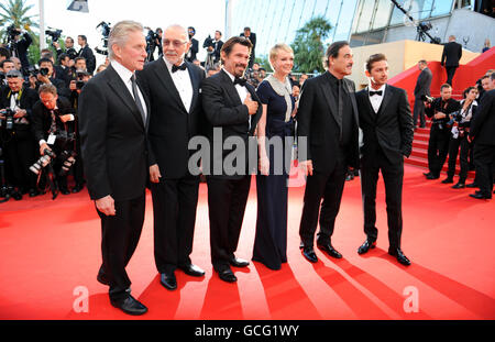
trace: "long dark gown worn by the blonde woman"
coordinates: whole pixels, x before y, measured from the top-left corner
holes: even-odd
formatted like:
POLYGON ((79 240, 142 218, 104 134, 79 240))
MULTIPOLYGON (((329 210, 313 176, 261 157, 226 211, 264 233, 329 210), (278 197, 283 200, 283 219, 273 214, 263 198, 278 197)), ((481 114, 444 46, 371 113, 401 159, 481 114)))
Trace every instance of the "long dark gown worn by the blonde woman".
MULTIPOLYGON (((257 188, 257 220, 254 240, 253 261, 263 263, 271 269, 280 269, 282 263, 287 262, 287 181, 290 168, 292 144, 286 144, 286 136, 294 136, 294 119, 285 122, 287 103, 283 96, 277 95, 268 81, 263 81, 256 90, 263 104, 267 104, 266 139, 279 136, 283 142, 283 170, 274 168, 274 162, 280 156, 274 155, 271 145, 270 174, 256 176, 257 188), (275 174, 274 170, 277 170, 275 174)), ((295 100, 292 99, 292 108, 295 100)), ((293 111, 293 110, 292 110, 293 111)), ((267 144, 268 145, 268 144, 267 144)), ((279 153, 279 152, 278 152, 279 153)))

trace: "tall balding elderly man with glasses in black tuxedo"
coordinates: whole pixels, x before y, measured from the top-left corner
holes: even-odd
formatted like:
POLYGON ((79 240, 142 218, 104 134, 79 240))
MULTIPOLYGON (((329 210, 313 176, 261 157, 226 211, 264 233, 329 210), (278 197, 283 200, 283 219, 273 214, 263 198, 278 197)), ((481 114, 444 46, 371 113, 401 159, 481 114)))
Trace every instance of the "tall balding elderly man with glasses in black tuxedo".
POLYGON ((161 283, 176 289, 175 269, 201 277, 191 264, 193 238, 198 205, 199 176, 188 169, 189 140, 202 129, 200 85, 205 73, 185 55, 190 47, 187 32, 169 26, 163 35, 164 57, 144 68, 150 95, 150 178, 152 181, 155 263, 161 283))

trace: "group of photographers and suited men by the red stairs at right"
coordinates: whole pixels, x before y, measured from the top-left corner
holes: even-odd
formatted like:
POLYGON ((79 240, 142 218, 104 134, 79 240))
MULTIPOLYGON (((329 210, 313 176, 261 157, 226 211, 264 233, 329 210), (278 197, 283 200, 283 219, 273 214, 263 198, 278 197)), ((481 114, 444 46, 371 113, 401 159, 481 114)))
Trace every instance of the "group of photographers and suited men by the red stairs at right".
MULTIPOLYGON (((440 97, 431 98, 432 71, 428 68, 427 60, 419 60, 418 76, 415 87, 415 128, 426 128, 426 117, 431 119, 430 136, 428 142, 428 168, 425 173, 428 180, 440 178, 440 174, 448 159, 447 178, 442 184, 453 184, 457 161, 459 156, 459 181, 453 189, 480 188, 470 196, 476 199, 491 199, 495 170, 488 167, 492 164, 490 157, 491 139, 476 136, 481 125, 490 125, 491 91, 495 89, 495 70, 487 70, 472 86, 463 89, 462 99, 455 100, 453 93, 453 78, 459 62, 462 57, 462 46, 455 42, 455 36, 449 37, 449 43, 443 47, 441 65, 446 68, 447 81, 440 87, 440 97), (485 102, 485 103, 483 103, 485 102), (481 119, 475 120, 476 117, 481 119), (486 121, 486 122, 485 122, 486 121), (473 183, 466 184, 468 173, 475 170, 473 183)), ((483 130, 486 131, 486 130, 483 130)))

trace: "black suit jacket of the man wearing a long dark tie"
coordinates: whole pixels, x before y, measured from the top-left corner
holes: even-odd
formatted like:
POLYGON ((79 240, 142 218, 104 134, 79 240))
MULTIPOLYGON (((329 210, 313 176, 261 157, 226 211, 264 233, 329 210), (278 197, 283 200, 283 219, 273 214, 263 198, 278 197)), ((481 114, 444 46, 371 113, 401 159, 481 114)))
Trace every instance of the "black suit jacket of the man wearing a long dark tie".
MULTIPOLYGON (((138 78, 150 118, 150 102, 138 78)), ((146 124, 110 65, 82 88, 78 107, 85 175, 91 199, 123 201, 143 195, 148 177, 146 124)), ((148 120, 147 120, 148 121, 148 120)))

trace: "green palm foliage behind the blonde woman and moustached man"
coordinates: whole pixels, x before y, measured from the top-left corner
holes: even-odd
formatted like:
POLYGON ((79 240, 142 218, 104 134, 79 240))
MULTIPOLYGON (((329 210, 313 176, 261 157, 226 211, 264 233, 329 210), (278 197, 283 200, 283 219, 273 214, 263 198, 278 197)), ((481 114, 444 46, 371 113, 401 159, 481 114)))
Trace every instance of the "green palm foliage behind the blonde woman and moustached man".
POLYGON ((328 38, 332 25, 323 16, 316 16, 297 30, 292 47, 294 49, 294 69, 298 73, 324 71, 323 42, 328 38))

